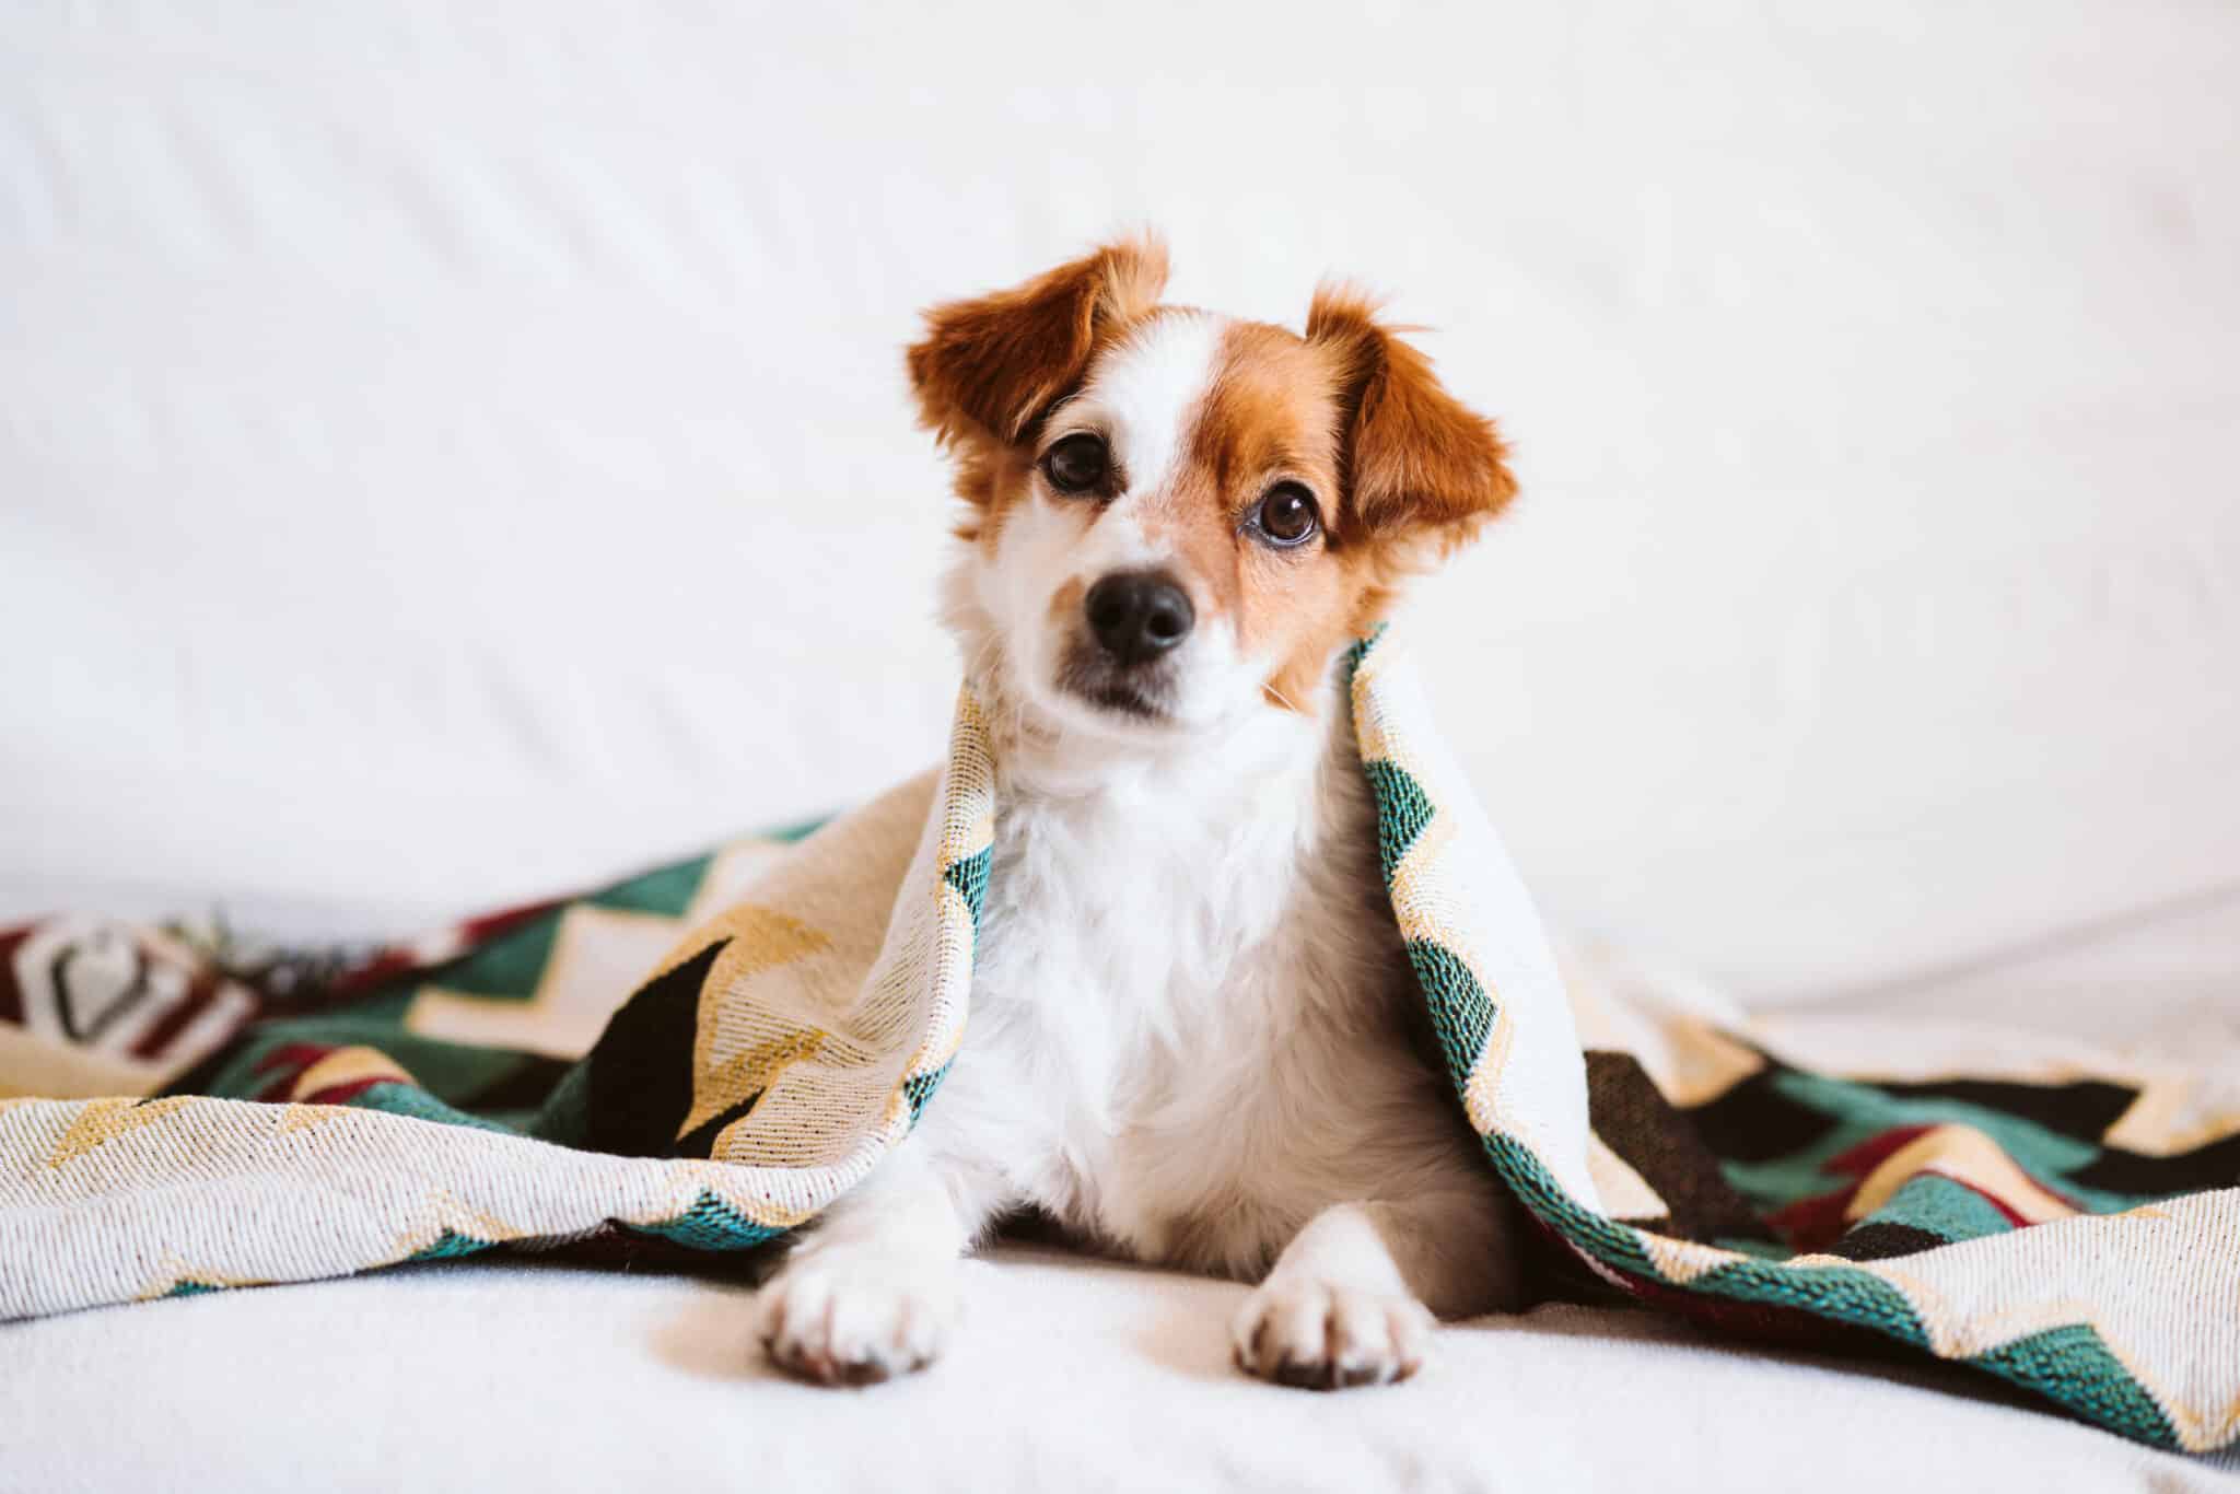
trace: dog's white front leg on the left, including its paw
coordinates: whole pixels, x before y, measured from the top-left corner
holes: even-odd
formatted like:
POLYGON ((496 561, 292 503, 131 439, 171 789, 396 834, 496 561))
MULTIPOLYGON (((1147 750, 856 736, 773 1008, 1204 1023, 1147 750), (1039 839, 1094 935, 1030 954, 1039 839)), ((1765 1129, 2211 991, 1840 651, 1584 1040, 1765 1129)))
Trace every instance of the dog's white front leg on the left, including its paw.
POLYGON ((992 1196, 905 1140, 824 1210, 755 1299, 771 1362, 820 1384, 923 1369, 956 1324, 956 1257, 992 1196))

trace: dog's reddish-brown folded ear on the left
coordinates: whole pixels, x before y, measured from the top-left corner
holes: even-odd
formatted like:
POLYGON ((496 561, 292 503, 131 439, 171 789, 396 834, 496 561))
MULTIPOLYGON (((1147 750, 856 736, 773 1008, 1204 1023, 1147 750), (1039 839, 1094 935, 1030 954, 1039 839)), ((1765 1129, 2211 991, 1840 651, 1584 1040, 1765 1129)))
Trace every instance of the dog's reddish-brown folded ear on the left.
POLYGON ((921 419, 943 441, 1017 441, 1080 383, 1098 343, 1156 307, 1165 287, 1167 249, 1145 235, 1010 291, 934 307, 909 349, 921 419))

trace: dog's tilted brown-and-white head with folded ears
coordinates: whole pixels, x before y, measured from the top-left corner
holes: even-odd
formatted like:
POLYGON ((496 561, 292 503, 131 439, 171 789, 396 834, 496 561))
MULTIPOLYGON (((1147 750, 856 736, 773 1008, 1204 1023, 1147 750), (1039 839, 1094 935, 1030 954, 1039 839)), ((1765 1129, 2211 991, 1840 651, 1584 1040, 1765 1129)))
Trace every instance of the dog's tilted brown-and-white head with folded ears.
POLYGON ((1160 305, 1120 242, 936 307, 909 349, 970 504, 952 611, 974 667, 1100 735, 1313 712, 1331 659, 1514 493, 1465 410, 1357 291, 1306 336, 1160 305))

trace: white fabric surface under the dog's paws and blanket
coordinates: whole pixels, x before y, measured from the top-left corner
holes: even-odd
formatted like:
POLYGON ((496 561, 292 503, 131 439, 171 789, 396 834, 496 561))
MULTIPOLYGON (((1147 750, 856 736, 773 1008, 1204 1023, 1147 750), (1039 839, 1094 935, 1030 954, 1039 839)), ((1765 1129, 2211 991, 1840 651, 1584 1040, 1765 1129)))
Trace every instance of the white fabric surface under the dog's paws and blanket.
POLYGON ((1971 1378, 1637 1313, 1449 1330, 1344 1395, 1228 1366, 1239 1286, 1004 1248, 918 1380, 773 1378, 744 1286, 430 1266, 0 1330, 20 1490, 2218 1490, 1971 1378))

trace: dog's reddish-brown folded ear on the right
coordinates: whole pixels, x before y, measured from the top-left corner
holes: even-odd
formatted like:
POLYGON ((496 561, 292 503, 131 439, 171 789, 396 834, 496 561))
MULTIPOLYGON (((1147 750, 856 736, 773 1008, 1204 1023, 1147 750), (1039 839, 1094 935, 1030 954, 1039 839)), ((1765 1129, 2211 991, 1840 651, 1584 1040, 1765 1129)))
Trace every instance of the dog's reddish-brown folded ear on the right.
POLYGON ((1510 448, 1483 414, 1447 394, 1431 361, 1375 318, 1357 289, 1324 284, 1306 340, 1340 363, 1346 502, 1340 533, 1413 529, 1445 551, 1469 540, 1516 495, 1510 448))

